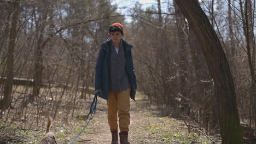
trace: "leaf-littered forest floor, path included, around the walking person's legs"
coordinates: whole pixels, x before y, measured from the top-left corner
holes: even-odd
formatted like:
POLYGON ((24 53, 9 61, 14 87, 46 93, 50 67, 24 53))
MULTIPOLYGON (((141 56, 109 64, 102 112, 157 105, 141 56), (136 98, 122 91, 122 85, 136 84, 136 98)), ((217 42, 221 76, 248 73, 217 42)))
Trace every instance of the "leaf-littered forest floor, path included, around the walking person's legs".
MULTIPOLYGON (((51 131, 56 135, 57 143, 68 143, 83 129, 87 121, 76 116, 87 115, 91 101, 92 97, 87 101, 80 100, 79 104, 82 104, 83 108, 74 110, 73 118, 67 118, 66 114, 64 114, 65 112, 61 111, 61 109, 59 110, 51 128, 51 131)), ((129 140, 132 144, 213 143, 195 128, 189 132, 188 126, 184 121, 160 116, 159 113, 161 112, 156 109, 156 106, 150 105, 149 101, 144 98, 138 98, 136 101, 131 100, 130 113, 129 140)), ((39 123, 39 127, 32 122, 25 129, 23 128, 24 124, 22 124, 22 116, 20 119, 21 121, 11 124, 4 123, 4 119, 0 119, 0 138, 7 140, 7 143, 40 143, 45 134, 46 118, 44 116, 40 118, 41 124, 39 123)), ((27 121, 36 121, 33 119, 27 118, 27 121)), ((191 124, 190 122, 187 123, 191 124)), ((196 127, 195 123, 191 125, 196 127)), ((210 134, 203 130, 202 132, 210 134)), ((215 142, 221 143, 219 135, 209 136, 215 142)), ((100 98, 98 99, 94 118, 74 143, 110 143, 110 141, 111 135, 107 122, 106 100, 100 98)))

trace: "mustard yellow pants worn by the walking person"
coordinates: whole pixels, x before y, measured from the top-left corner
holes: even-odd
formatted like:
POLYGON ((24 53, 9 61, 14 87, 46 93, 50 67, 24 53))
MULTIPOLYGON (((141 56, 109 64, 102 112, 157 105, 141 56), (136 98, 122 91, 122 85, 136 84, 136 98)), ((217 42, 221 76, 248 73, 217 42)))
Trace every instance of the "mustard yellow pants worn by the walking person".
POLYGON ((130 125, 130 91, 131 88, 125 89, 123 92, 108 92, 108 124, 110 131, 118 130, 129 131, 130 125))

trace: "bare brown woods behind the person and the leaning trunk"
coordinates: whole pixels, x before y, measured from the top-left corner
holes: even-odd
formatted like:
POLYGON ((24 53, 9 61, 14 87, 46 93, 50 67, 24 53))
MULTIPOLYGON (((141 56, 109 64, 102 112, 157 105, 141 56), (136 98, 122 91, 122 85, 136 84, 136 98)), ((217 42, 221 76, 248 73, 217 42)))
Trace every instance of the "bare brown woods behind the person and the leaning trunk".
MULTIPOLYGON (((1 121, 40 125, 44 109, 54 118, 62 109, 63 121, 72 119, 94 93, 96 58, 107 28, 120 22, 124 39, 133 45, 138 91, 162 116, 218 130, 214 83, 199 41, 175 2, 152 3, 131 8, 109 0, 0 1, 1 121), (28 114, 36 121, 27 121, 28 114)), ((255 1, 199 3, 228 58, 240 121, 254 128, 255 1)))

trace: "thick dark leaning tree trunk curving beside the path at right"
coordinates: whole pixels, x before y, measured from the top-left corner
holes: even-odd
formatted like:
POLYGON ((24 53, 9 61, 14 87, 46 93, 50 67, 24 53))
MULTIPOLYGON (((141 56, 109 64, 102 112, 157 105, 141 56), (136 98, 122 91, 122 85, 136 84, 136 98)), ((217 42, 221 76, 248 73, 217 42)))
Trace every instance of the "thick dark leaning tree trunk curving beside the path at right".
POLYGON ((217 34, 196 0, 176 0, 176 3, 202 45, 203 55, 214 81, 214 99, 218 106, 222 143, 243 143, 240 119, 236 107, 234 82, 217 34))

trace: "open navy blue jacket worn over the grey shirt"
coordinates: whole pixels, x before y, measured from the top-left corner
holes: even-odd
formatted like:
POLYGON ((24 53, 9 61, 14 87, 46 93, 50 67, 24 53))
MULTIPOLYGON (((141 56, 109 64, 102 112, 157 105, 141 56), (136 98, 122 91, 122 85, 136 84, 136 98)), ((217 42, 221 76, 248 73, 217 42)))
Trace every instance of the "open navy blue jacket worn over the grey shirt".
MULTIPOLYGON (((135 100, 135 89, 137 89, 136 76, 133 69, 133 61, 131 49, 132 45, 126 43, 123 39, 123 46, 125 49, 125 70, 131 85, 130 98, 135 100)), ((95 74, 95 90, 101 89, 101 98, 108 100, 108 91, 110 86, 110 57, 111 57, 111 39, 108 39, 101 45, 101 50, 97 58, 96 74, 95 74)))

